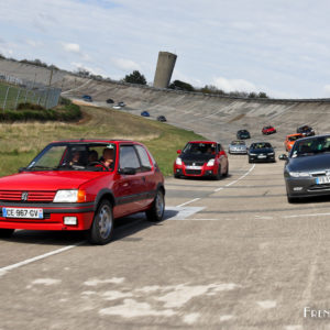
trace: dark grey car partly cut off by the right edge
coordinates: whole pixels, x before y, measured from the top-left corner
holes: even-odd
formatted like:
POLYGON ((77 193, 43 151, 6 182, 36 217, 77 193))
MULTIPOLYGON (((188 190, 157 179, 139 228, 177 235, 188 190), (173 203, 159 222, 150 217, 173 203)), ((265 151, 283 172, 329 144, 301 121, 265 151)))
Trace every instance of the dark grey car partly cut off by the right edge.
POLYGON ((330 195, 330 134, 296 141, 284 167, 287 199, 330 195))

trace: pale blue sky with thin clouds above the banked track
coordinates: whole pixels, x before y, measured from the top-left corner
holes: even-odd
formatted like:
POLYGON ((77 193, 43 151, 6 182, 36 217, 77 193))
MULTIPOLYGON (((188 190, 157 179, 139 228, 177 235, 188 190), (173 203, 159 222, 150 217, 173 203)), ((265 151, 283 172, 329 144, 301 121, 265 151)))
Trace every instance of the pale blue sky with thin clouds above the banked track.
POLYGON ((160 51, 174 79, 274 98, 330 97, 326 0, 0 0, 0 53, 152 82, 160 51))

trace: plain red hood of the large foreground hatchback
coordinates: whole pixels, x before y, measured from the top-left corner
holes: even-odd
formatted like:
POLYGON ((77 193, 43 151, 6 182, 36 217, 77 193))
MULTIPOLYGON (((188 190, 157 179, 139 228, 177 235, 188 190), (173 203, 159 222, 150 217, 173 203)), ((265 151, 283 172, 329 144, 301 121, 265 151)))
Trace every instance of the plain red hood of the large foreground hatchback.
POLYGON ((107 172, 23 172, 0 178, 0 190, 75 189, 107 172))

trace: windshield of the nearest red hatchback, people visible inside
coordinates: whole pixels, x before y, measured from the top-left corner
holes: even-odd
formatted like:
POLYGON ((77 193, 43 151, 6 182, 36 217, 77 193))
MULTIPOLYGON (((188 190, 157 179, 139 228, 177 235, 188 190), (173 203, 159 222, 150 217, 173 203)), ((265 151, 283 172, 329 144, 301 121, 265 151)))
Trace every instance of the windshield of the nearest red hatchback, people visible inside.
POLYGON ((114 164, 113 143, 58 143, 46 146, 25 169, 112 170, 114 164))

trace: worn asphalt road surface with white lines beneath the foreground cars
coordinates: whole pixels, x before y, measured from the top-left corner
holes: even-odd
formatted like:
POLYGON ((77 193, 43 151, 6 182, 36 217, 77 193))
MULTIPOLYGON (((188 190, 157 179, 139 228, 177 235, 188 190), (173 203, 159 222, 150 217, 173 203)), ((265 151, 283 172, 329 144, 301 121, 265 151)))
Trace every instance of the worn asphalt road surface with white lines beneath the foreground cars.
POLYGON ((330 308, 330 199, 289 205, 283 165, 167 178, 166 219, 123 219, 106 246, 0 241, 0 329, 328 329, 304 308, 330 308))

